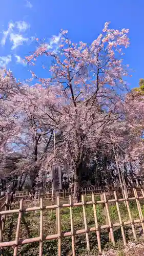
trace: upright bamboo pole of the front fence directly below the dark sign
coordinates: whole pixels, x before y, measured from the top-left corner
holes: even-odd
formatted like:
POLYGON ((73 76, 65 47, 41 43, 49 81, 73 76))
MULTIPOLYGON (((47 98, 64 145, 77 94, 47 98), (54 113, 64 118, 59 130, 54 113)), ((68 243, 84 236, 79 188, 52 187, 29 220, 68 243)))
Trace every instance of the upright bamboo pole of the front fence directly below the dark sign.
POLYGON ((60 200, 57 197, 57 233, 58 233, 58 256, 61 256, 61 224, 60 224, 60 200))

